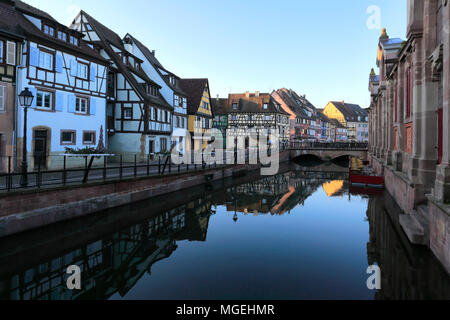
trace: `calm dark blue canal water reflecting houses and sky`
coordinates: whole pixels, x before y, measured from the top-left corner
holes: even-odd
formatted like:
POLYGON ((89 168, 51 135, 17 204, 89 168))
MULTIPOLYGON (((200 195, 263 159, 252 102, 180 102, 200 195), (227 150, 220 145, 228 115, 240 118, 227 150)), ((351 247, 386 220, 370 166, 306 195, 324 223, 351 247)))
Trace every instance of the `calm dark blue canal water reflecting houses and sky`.
POLYGON ((1 239, 0 299, 450 299, 389 195, 336 168, 248 173, 1 239))

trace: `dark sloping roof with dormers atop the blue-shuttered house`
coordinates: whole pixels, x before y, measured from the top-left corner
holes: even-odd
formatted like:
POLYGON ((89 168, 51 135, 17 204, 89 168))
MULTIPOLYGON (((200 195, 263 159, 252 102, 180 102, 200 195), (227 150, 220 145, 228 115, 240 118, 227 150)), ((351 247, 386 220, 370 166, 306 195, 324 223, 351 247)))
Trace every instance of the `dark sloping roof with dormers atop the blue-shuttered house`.
POLYGON ((0 30, 13 36, 15 35, 22 38, 29 38, 32 41, 83 57, 87 60, 93 60, 103 65, 109 65, 107 60, 105 60, 98 52, 90 48, 84 41, 80 40, 80 45, 74 46, 68 42, 64 42, 47 35, 42 32, 41 29, 36 27, 30 20, 28 20, 24 14, 33 15, 41 20, 51 21, 52 24, 59 29, 64 30, 69 34, 76 35, 79 38, 83 37, 81 33, 71 30, 58 23, 49 14, 17 0, 0 1, 0 30))

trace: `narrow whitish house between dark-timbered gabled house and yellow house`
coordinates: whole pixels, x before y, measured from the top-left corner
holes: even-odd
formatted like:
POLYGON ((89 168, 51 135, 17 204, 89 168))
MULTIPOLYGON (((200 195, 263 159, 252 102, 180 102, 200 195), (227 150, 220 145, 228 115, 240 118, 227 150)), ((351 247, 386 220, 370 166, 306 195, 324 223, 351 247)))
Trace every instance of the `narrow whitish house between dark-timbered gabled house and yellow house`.
MULTIPOLYGON (((150 50, 132 35, 127 34, 124 42, 125 48, 143 61, 142 70, 161 86, 161 95, 173 106, 172 143, 175 143, 177 150, 183 153, 186 150, 188 115, 187 94, 180 88, 180 78, 163 67, 156 58, 155 50, 150 50)), ((152 141, 152 137, 150 139, 152 141)))

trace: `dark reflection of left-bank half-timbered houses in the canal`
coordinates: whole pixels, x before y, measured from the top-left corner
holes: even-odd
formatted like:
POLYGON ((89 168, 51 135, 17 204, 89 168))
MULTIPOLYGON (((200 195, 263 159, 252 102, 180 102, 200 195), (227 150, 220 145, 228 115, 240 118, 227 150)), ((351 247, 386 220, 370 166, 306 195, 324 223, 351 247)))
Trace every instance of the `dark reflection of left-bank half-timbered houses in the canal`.
POLYGON ((108 299, 124 296, 152 266, 177 249, 177 241, 205 241, 210 197, 48 259, 0 280, 0 299, 108 299), (82 271, 82 290, 66 289, 66 270, 82 271))

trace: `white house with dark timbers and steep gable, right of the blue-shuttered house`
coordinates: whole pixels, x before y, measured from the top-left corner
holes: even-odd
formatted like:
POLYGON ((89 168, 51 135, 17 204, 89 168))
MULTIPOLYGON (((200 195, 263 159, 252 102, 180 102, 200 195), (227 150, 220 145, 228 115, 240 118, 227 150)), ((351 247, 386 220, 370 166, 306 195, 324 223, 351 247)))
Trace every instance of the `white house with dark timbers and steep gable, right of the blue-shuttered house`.
POLYGON ((83 33, 111 63, 107 83, 109 150, 139 155, 141 160, 168 152, 173 107, 162 96, 162 86, 144 71, 144 60, 132 53, 130 44, 84 11, 71 28, 83 33))

